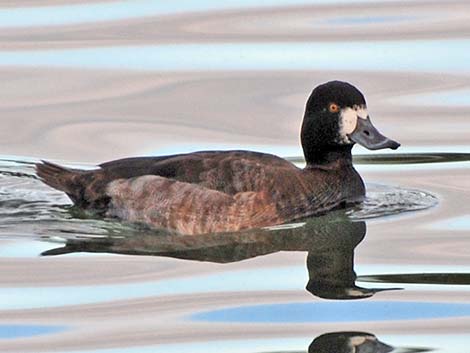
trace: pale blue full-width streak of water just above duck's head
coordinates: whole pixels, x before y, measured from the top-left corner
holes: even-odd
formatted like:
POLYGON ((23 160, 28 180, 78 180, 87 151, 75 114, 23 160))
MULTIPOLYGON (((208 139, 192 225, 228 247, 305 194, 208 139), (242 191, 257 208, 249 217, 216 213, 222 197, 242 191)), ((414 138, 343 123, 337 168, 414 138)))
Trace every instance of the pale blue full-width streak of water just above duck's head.
POLYGON ((0 65, 128 70, 470 71, 470 39, 9 51, 0 65))

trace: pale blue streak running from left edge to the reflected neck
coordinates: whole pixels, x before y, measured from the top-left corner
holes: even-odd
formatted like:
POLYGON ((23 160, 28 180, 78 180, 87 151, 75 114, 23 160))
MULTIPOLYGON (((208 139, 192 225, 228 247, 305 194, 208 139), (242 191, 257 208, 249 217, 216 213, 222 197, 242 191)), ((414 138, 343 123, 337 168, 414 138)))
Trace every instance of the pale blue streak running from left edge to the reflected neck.
POLYGON ((307 282, 303 266, 222 272, 110 285, 0 288, 0 310, 57 307, 188 293, 296 290, 307 282))

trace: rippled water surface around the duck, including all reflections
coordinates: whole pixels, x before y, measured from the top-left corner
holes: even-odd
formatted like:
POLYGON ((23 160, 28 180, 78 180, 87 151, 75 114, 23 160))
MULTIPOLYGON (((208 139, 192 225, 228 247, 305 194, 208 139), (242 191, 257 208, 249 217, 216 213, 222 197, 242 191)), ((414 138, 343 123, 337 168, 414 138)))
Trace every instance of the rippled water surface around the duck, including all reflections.
POLYGON ((470 3, 3 1, 0 351, 468 352, 470 3), (40 159, 244 148, 302 164, 313 86, 402 143, 354 209, 169 236, 90 217, 40 159))

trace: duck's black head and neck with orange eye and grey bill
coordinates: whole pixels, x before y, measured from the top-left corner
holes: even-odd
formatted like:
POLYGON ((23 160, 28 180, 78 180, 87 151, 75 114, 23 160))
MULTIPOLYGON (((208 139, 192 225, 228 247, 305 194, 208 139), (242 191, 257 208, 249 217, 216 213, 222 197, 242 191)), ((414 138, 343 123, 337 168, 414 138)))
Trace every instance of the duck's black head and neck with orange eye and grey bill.
POLYGON ((355 143, 370 150, 400 147, 372 125, 364 95, 341 81, 327 82, 313 90, 305 107, 301 141, 310 165, 350 161, 355 143))

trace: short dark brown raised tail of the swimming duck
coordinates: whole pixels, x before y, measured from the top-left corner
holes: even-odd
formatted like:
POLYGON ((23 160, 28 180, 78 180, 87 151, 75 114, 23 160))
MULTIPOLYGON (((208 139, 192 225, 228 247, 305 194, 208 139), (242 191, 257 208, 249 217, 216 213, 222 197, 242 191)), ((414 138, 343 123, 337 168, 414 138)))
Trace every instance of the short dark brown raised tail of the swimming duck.
POLYGON ((82 173, 81 170, 62 167, 47 161, 36 163, 37 176, 45 184, 65 192, 73 202, 77 202, 82 197, 83 190, 78 185, 78 177, 82 173))

